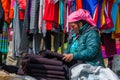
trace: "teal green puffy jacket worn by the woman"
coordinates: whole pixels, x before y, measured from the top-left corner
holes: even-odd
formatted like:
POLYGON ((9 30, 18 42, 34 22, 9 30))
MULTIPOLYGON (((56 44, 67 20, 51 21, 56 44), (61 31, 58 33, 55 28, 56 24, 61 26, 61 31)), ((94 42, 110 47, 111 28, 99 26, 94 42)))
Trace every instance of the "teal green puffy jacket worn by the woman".
POLYGON ((98 29, 85 24, 80 28, 79 34, 76 36, 71 31, 65 53, 73 54, 74 60, 82 60, 94 66, 104 66, 98 29))

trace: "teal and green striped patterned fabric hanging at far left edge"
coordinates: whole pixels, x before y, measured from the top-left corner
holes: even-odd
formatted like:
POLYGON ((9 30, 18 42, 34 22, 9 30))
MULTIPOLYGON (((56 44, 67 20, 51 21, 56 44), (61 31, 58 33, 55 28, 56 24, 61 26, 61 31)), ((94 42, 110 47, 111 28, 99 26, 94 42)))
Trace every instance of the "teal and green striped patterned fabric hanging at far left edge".
POLYGON ((3 33, 0 34, 0 52, 8 53, 7 23, 4 22, 3 33))

